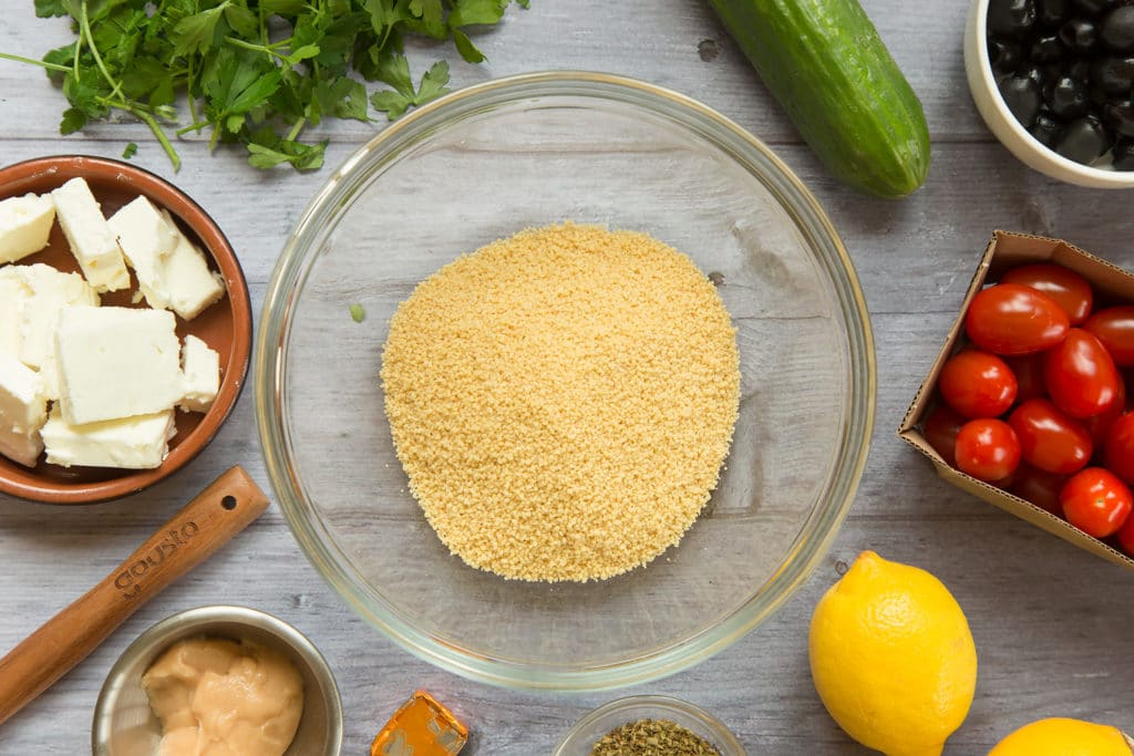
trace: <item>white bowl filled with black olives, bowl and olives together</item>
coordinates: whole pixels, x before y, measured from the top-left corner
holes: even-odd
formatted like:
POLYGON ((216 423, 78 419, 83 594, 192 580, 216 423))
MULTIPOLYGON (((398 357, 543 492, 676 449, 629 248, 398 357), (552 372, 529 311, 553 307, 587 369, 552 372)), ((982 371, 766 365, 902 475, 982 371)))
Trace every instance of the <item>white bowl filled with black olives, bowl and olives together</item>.
POLYGON ((1024 163, 1134 187, 1134 0, 973 0, 965 70, 984 122, 1024 163))

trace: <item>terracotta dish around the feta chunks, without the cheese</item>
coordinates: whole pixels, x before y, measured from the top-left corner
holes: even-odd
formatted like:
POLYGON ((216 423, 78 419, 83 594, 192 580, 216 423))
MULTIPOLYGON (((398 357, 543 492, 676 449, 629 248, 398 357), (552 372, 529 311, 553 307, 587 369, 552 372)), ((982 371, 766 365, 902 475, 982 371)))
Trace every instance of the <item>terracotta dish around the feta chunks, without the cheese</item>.
MULTIPOLYGON (((83 177, 102 212, 109 216, 138 195, 164 207, 180 230, 201 247, 210 264, 225 279, 226 295, 189 322, 177 320, 177 335, 192 333, 220 354, 221 381, 217 400, 208 413, 177 413, 177 435, 161 467, 120 470, 93 467, 64 468, 41 458, 27 468, 0 457, 0 491, 22 499, 54 504, 91 503, 141 491, 180 469, 204 449, 236 405, 244 388, 252 348, 252 307, 244 272, 231 245, 213 220, 193 199, 163 179, 128 163, 104 158, 64 155, 39 158, 0 169, 0 199, 34 192, 50 192, 65 181, 83 177)), ((19 264, 46 263, 75 272, 78 265, 57 222, 48 247, 24 257, 19 264)), ((136 289, 136 287, 135 287, 136 289)), ((103 295, 103 305, 133 305, 134 290, 103 295)))

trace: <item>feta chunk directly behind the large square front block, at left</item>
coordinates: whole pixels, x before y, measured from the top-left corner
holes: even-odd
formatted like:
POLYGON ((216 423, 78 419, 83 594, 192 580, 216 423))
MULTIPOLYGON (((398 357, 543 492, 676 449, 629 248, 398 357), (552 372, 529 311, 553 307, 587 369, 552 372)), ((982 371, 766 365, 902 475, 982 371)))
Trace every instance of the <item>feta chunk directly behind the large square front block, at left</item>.
POLYGON ((0 273, 3 279, 17 281, 24 290, 19 305, 19 359, 28 367, 40 368, 54 349, 59 311, 71 305, 99 305, 99 295, 78 273, 60 273, 42 263, 11 265, 0 269, 0 273))

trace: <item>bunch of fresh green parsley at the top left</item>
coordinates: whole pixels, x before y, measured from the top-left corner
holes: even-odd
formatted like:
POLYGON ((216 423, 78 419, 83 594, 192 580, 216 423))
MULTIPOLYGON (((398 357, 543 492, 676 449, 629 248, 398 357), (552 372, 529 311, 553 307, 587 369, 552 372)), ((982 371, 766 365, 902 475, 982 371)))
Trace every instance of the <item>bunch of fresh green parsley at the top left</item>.
POLYGON ((185 94, 192 122, 177 135, 208 129, 210 150, 238 142, 256 168, 310 170, 323 164, 327 142, 301 141, 306 126, 369 121, 371 107, 392 120, 448 92, 445 61, 414 86, 406 34, 451 39, 465 60, 481 62, 467 29, 498 23, 510 2, 35 0, 40 17, 69 16, 78 39, 42 61, 0 57, 41 66, 62 85, 70 103, 62 134, 125 111, 150 126, 176 170, 180 158, 162 124, 180 126, 175 105, 185 94), (359 79, 393 88, 371 94, 359 79))

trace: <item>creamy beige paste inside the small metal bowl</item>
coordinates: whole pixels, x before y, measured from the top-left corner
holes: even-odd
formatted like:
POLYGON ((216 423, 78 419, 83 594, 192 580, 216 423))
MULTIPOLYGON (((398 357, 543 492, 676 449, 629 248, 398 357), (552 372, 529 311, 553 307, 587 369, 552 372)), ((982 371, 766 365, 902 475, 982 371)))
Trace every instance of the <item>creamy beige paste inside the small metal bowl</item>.
POLYGON ((145 671, 161 721, 158 756, 282 756, 303 713, 303 678, 282 654, 221 638, 179 640, 145 671))

